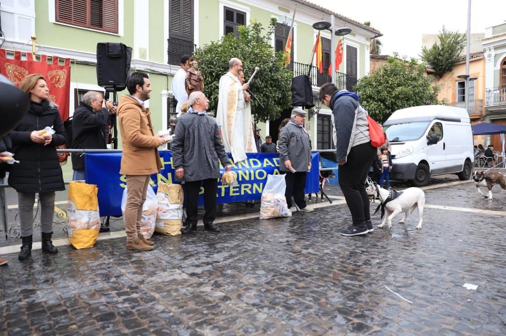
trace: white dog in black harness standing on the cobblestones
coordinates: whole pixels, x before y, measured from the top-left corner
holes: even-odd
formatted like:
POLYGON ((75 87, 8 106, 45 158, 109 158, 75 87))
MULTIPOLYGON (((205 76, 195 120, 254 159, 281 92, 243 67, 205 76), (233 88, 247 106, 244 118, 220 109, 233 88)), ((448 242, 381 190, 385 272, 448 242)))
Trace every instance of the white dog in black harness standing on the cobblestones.
POLYGON ((416 225, 416 228, 421 229, 425 205, 425 193, 423 190, 412 187, 398 192, 392 189, 387 190, 376 185, 376 191, 376 196, 379 198, 381 206, 385 208, 385 219, 378 225, 378 228, 384 227, 387 221, 388 228, 392 228, 392 219, 401 212, 404 212, 404 218, 401 219, 399 223, 404 223, 408 215, 412 213, 415 208, 418 208, 418 225, 416 225))

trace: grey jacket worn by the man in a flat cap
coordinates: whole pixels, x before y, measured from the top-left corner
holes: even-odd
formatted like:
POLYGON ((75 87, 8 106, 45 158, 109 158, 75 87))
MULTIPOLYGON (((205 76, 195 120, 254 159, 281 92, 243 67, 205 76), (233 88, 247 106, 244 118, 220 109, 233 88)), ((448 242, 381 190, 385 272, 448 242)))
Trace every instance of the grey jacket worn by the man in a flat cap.
POLYGON ((298 172, 308 171, 311 162, 311 143, 309 134, 302 127, 291 123, 281 128, 279 134, 279 169, 290 171, 284 162, 290 160, 291 166, 298 172))

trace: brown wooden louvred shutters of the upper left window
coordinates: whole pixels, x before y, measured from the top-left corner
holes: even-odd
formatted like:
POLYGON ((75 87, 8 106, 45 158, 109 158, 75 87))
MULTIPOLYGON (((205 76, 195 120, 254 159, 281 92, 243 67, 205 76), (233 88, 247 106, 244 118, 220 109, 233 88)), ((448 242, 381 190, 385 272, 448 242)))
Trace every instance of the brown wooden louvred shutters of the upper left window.
POLYGON ((56 21, 118 32, 117 0, 56 0, 56 21))

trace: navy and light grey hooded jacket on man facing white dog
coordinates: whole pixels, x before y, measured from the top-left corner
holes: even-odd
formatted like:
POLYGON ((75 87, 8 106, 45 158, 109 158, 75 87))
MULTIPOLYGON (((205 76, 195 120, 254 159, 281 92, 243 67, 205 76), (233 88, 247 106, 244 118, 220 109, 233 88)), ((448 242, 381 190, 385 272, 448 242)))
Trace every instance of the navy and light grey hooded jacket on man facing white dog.
POLYGON ((332 138, 338 162, 347 161, 352 147, 371 140, 367 111, 358 103, 358 95, 348 91, 343 94, 343 91, 334 94, 331 100, 332 138))

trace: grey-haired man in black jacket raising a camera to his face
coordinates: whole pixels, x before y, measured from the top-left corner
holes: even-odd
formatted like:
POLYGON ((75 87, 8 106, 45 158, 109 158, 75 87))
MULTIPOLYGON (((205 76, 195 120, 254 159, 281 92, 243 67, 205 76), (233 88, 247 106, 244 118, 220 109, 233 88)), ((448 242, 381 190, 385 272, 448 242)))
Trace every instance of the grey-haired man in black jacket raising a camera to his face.
MULTIPOLYGON (((109 120, 114 123, 117 108, 111 101, 105 101, 101 92, 88 91, 72 117, 72 149, 107 148, 109 120)), ((85 179, 85 155, 72 153, 72 180, 85 179)))

